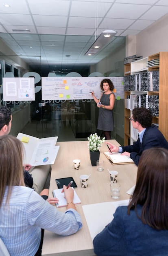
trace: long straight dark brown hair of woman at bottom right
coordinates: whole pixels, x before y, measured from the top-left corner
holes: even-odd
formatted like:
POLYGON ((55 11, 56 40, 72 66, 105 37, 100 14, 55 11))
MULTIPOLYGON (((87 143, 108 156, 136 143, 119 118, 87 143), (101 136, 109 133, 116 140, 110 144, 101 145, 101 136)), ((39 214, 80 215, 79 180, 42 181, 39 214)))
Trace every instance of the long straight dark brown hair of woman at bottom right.
POLYGON ((168 229, 168 150, 150 148, 144 150, 137 170, 137 181, 128 214, 137 213, 137 204, 142 205, 144 224, 155 229, 168 229))

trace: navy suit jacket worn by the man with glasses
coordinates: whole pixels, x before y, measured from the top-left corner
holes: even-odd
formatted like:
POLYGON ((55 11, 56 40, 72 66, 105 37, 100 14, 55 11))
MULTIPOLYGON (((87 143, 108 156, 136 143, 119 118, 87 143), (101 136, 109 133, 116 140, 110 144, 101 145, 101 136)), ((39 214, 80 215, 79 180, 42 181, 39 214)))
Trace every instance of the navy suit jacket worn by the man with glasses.
POLYGON ((142 144, 138 138, 133 145, 122 147, 122 152, 127 151, 131 153, 130 158, 138 165, 142 152, 145 149, 154 147, 168 149, 168 141, 166 141, 165 137, 156 126, 151 126, 146 128, 142 138, 142 144))

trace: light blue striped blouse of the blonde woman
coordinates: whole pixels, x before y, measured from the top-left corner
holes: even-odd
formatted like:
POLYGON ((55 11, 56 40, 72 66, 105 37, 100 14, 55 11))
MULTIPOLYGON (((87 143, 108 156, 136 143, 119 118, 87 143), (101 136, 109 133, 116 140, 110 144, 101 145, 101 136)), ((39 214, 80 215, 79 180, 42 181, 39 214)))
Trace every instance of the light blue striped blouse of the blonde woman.
POLYGON ((28 187, 13 187, 8 206, 5 204, 7 189, 0 207, 0 237, 11 256, 34 256, 39 248, 41 228, 61 236, 81 229, 77 211, 68 209, 62 213, 28 187))

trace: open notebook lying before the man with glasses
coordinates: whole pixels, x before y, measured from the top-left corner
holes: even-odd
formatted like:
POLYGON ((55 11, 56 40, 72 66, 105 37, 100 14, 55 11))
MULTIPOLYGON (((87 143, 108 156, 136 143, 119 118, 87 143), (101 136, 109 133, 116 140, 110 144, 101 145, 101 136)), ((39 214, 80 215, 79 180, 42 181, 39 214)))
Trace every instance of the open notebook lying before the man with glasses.
POLYGON ((107 159, 110 160, 111 164, 133 164, 133 159, 127 155, 121 155, 121 153, 109 153, 104 152, 107 159))

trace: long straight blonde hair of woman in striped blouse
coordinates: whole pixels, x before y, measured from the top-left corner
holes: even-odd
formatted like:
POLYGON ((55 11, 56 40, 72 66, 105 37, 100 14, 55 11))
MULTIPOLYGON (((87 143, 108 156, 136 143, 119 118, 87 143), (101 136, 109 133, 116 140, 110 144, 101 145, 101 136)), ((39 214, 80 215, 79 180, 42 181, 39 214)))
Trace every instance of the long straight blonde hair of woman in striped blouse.
POLYGON ((12 135, 0 136, 0 206, 6 187, 9 202, 13 186, 25 186, 23 174, 24 146, 12 135))

